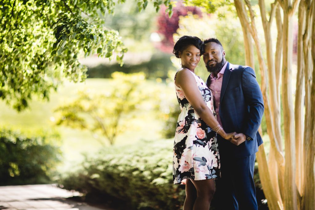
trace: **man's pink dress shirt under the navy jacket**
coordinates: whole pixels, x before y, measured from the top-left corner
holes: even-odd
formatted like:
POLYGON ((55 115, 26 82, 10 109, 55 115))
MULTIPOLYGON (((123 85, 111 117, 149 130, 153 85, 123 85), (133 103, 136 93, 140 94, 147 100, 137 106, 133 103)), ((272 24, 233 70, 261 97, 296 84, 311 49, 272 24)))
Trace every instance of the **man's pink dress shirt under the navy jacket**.
POLYGON ((214 73, 210 74, 210 85, 209 89, 212 92, 212 95, 215 99, 215 113, 217 120, 219 124, 222 126, 220 115, 219 115, 219 109, 220 109, 220 95, 221 95, 221 87, 222 87, 222 80, 223 80, 223 74, 227 66, 227 61, 222 67, 221 71, 218 73, 218 78, 214 76, 214 73))

